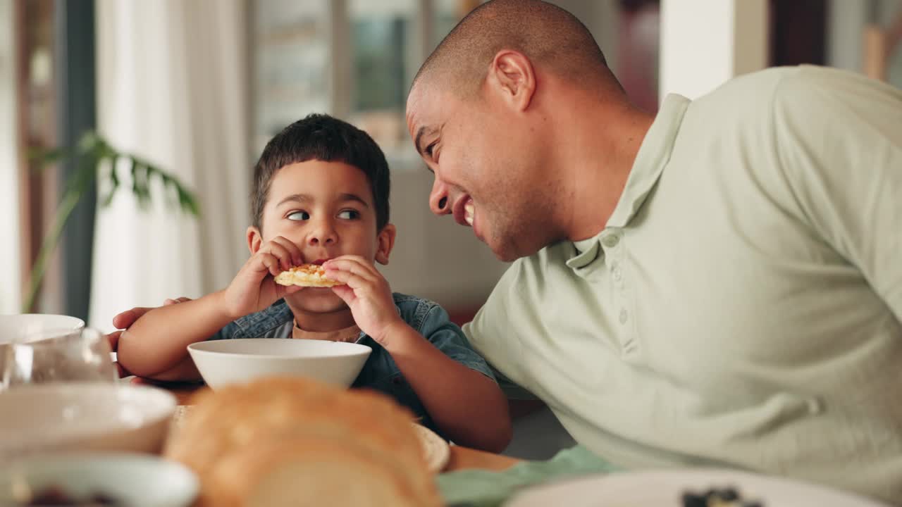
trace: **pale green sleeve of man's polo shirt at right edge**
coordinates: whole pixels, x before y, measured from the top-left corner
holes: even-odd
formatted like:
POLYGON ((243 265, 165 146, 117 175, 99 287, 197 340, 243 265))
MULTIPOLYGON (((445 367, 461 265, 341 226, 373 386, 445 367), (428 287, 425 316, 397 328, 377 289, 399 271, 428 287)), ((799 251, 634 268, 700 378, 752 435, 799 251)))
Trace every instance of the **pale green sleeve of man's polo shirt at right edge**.
POLYGON ((773 115, 805 216, 902 321, 902 90, 803 67, 779 85, 773 115))

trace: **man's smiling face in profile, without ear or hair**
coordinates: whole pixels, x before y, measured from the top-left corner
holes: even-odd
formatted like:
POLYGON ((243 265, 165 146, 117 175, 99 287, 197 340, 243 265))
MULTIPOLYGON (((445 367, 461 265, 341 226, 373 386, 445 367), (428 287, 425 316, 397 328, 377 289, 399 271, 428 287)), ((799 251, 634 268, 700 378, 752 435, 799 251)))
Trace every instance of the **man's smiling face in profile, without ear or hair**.
POLYGON ((522 112, 491 94, 463 100, 418 84, 408 97, 407 122, 435 174, 433 213, 473 227, 502 261, 557 239, 551 223, 557 189, 549 183, 546 144, 522 112))

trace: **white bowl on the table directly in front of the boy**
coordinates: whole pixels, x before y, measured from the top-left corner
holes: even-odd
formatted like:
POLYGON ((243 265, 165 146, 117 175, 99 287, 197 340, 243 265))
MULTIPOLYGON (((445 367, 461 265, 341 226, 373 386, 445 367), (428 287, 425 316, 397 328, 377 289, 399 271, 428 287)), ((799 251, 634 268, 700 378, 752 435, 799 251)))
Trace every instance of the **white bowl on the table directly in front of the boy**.
POLYGON ((188 351, 204 381, 216 389, 273 375, 310 377, 348 387, 373 349, 325 340, 242 338, 199 342, 189 345, 188 351))

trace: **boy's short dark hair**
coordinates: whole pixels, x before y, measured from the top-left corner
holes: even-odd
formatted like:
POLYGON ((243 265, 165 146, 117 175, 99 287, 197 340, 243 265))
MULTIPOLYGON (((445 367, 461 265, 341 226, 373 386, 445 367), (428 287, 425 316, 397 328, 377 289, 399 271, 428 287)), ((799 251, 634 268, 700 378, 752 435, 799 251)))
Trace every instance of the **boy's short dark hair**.
POLYGON ((344 162, 364 171, 373 191, 376 231, 389 223, 389 164, 369 134, 330 115, 308 115, 276 134, 253 168, 251 213, 261 226, 272 178, 281 168, 304 161, 344 162))

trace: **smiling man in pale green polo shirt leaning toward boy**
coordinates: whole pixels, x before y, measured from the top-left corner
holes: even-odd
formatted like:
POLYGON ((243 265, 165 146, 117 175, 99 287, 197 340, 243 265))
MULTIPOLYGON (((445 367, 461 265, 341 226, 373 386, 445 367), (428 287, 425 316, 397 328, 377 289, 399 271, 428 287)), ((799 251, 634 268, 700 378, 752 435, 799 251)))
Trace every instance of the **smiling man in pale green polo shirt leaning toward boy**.
POLYGON ((407 118, 433 212, 516 259, 466 335, 578 442, 902 503, 902 93, 769 69, 652 116, 574 16, 496 0, 407 118))

